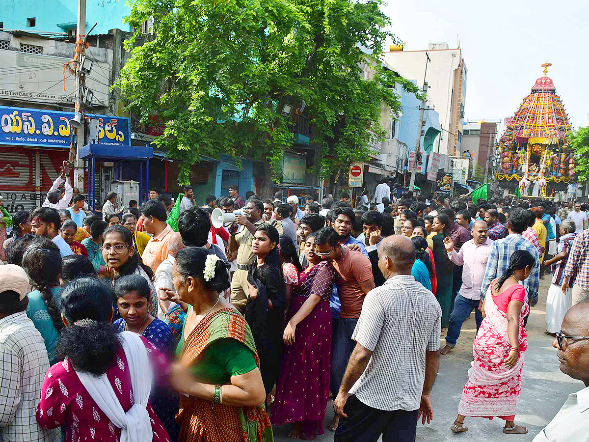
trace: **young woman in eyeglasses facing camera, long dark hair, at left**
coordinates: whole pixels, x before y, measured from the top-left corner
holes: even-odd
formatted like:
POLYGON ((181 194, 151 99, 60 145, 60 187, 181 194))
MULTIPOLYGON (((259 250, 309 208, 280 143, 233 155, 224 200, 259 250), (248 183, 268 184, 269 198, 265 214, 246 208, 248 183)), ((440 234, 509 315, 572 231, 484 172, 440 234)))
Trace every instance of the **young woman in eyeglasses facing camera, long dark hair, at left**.
POLYGON ((148 313, 157 317, 157 294, 153 285, 154 274, 151 268, 143 263, 141 256, 133 247, 133 236, 126 227, 111 226, 104 232, 102 242, 102 258, 112 269, 112 286, 118 278, 125 275, 140 275, 145 278, 150 290, 148 313))

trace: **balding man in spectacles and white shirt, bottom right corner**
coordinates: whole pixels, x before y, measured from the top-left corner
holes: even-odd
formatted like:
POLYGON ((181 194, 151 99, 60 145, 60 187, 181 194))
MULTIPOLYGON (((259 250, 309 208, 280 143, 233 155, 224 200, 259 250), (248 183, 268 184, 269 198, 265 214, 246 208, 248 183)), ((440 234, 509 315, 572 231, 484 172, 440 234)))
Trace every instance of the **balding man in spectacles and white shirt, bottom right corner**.
POLYGON ((560 371, 583 381, 585 388, 568 395, 554 419, 534 442, 589 441, 589 303, 572 306, 552 347, 557 348, 560 371))

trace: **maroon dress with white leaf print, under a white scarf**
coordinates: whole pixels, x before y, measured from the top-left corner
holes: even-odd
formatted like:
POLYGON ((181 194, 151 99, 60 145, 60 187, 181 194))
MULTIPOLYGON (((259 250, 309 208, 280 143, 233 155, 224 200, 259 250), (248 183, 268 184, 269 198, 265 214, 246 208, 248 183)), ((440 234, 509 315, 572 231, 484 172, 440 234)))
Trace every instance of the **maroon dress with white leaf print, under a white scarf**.
MULTIPOLYGON (((167 372, 167 359, 147 339, 141 337, 141 340, 154 365, 157 381, 158 374, 167 372)), ((116 364, 107 369, 107 377, 125 413, 134 404, 127 368, 127 358, 121 347, 116 364)), ((170 442, 170 436, 150 403, 147 404, 147 413, 151 420, 153 442, 170 442)), ((57 428, 65 424, 65 442, 118 442, 121 437, 121 428, 115 427, 107 415, 102 413, 67 358, 49 368, 45 375, 41 401, 37 407, 37 422, 44 428, 57 428)))

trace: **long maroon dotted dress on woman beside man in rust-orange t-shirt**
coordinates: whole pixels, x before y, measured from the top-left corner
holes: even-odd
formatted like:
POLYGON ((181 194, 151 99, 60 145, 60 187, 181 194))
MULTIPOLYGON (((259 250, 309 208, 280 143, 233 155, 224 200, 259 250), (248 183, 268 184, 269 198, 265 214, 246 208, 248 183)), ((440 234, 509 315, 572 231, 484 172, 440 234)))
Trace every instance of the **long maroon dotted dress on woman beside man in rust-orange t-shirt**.
POLYGON ((289 319, 310 295, 321 299, 297 325, 294 344, 284 346, 276 381, 276 400, 270 416, 273 425, 302 423, 300 437, 307 440, 325 433, 332 342, 329 298, 334 275, 333 266, 326 261, 300 273, 289 319))

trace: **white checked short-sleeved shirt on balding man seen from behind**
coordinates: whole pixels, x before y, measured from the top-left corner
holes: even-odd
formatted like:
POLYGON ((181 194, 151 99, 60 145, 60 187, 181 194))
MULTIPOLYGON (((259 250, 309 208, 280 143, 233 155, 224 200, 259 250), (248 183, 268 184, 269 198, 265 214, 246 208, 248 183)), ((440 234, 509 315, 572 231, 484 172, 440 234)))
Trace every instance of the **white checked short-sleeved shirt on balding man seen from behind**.
POLYGON ((396 275, 366 295, 352 339, 372 357, 350 389, 378 410, 419 408, 425 352, 440 347, 442 309, 412 275, 396 275))

